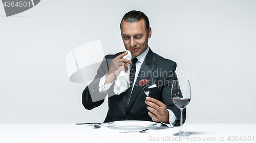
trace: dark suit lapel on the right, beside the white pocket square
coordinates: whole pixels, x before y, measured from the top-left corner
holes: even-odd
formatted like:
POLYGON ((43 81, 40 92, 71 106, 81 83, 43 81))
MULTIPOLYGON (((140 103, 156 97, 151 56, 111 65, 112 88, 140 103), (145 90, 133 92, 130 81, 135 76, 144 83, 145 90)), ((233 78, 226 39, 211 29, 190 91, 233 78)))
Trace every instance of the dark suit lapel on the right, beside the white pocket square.
MULTIPOLYGON (((146 55, 146 58, 144 60, 144 62, 142 63, 141 65, 141 68, 140 68, 140 71, 139 71, 139 75, 137 77, 137 80, 134 84, 134 88, 133 88, 133 92, 132 92, 132 95, 131 95, 131 99, 130 99, 130 103, 129 103, 129 106, 127 107, 127 99, 126 99, 126 107, 127 109, 126 112, 130 109, 130 107, 132 106, 134 100, 136 99, 136 97, 139 95, 140 91, 143 90, 142 89, 142 86, 139 85, 139 81, 141 79, 148 79, 148 77, 151 75, 151 74, 147 74, 147 73, 152 73, 152 71, 156 68, 156 56, 155 56, 155 53, 153 53, 153 51, 150 49, 146 55)), ((127 92, 125 92, 126 95, 127 95, 127 92)), ((126 97, 127 98, 127 97, 126 97)), ((123 101, 124 98, 123 98, 123 101)), ((125 103, 124 103, 125 105, 125 103)))

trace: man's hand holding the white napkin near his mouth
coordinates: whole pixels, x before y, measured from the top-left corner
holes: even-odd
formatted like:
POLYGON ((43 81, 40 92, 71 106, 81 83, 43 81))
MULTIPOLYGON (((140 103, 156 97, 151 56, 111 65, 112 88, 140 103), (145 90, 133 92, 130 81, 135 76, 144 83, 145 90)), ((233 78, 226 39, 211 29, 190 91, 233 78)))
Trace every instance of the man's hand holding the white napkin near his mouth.
POLYGON ((129 70, 127 65, 125 63, 131 64, 132 62, 126 59, 122 59, 124 55, 126 55, 128 52, 125 51, 124 53, 119 54, 116 56, 115 59, 112 60, 110 64, 110 69, 108 73, 106 73, 106 79, 104 84, 111 83, 116 76, 119 74, 121 70, 129 70))

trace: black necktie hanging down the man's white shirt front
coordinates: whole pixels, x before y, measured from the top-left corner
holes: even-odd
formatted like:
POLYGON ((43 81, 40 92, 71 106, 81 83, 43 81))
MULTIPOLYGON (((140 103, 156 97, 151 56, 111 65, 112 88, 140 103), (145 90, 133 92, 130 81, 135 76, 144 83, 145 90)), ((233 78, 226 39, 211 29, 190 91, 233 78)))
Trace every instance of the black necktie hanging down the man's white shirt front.
POLYGON ((134 77, 135 77, 135 73, 136 73, 136 62, 138 61, 137 58, 134 58, 132 60, 132 67, 130 70, 130 88, 127 92, 128 96, 127 96, 127 106, 129 105, 129 101, 131 98, 131 93, 132 93, 132 88, 133 88, 133 82, 134 82, 134 77))

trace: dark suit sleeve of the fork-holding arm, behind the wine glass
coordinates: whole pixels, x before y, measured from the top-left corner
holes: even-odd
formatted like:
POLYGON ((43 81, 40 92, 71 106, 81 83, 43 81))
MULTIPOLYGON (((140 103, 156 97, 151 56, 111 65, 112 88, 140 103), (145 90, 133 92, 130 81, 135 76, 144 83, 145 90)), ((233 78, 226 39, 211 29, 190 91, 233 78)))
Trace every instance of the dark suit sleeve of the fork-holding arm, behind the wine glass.
MULTIPOLYGON (((163 99, 163 103, 166 105, 166 108, 169 110, 172 110, 174 115, 176 116, 176 121, 173 123, 173 125, 180 126, 180 109, 175 106, 175 104, 172 101, 172 95, 170 94, 172 91, 172 81, 178 79, 175 73, 176 67, 177 67, 177 64, 173 62, 168 69, 168 73, 164 81, 162 99, 163 99)), ((183 109, 182 117, 183 117, 183 123, 184 123, 186 119, 185 108, 183 109)))

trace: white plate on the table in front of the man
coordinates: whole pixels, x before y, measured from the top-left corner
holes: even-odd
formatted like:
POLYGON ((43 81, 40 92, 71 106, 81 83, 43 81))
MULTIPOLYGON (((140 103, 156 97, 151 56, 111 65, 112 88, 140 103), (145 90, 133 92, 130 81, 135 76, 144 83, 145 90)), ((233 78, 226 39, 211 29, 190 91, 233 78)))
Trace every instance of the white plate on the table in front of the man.
POLYGON ((156 124, 157 124, 156 122, 150 122, 150 121, 126 120, 126 121, 111 122, 109 127, 118 128, 118 129, 146 129, 156 124))

